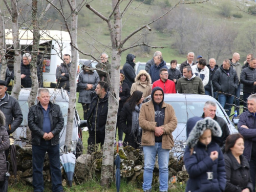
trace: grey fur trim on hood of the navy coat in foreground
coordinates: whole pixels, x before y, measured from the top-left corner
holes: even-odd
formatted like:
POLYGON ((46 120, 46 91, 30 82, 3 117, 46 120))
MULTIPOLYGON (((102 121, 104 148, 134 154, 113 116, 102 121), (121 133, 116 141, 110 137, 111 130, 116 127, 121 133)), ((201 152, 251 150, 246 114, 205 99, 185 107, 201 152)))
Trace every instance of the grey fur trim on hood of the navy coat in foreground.
POLYGON ((219 123, 210 117, 206 117, 197 121, 187 138, 187 145, 189 148, 194 148, 198 143, 200 136, 203 135, 206 129, 211 130, 211 136, 221 137, 222 130, 219 123))

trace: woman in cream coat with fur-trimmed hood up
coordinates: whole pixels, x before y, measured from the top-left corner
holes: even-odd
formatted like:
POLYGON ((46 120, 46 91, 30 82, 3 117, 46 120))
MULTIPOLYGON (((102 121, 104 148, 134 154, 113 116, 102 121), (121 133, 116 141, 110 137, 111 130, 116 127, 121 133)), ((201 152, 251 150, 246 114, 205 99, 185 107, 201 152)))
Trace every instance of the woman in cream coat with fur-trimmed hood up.
POLYGON ((140 70, 139 74, 135 77, 135 82, 132 84, 131 95, 136 90, 143 93, 144 98, 151 95, 152 85, 151 77, 145 70, 140 70))

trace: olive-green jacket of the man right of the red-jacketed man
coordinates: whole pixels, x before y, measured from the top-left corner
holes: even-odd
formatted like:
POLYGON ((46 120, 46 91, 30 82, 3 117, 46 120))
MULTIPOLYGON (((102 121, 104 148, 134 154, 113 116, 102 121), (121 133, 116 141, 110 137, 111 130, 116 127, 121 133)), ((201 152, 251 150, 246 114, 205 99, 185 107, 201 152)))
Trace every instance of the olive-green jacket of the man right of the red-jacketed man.
POLYGON ((177 93, 205 94, 203 81, 195 74, 193 74, 190 80, 185 77, 181 77, 177 82, 176 90, 177 93))

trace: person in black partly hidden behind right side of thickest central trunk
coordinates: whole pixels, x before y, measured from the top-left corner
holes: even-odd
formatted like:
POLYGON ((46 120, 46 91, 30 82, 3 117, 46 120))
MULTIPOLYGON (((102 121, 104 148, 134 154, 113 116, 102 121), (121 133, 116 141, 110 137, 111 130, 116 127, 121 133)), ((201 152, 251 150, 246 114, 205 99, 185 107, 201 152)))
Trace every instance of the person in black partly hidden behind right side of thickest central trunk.
MULTIPOLYGON (((127 101, 127 99, 131 96, 130 95, 130 88, 127 83, 123 82, 124 80, 124 73, 123 70, 120 70, 120 84, 119 84, 119 106, 118 106, 118 112, 117 112, 117 127, 118 127, 118 145, 122 146, 122 140, 123 140, 123 131, 119 124, 120 114, 121 110, 123 108, 123 104, 127 101)), ((115 141, 116 144, 116 141, 115 141)))

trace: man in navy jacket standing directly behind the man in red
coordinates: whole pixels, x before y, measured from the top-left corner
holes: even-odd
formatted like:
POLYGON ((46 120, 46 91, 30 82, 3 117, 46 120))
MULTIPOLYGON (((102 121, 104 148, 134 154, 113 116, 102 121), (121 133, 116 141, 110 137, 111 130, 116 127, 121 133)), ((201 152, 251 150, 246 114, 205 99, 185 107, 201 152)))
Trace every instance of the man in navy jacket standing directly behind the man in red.
POLYGON ((155 65, 151 66, 150 71, 148 74, 150 74, 152 83, 154 83, 156 80, 160 79, 159 72, 160 69, 165 68, 168 70, 166 66, 166 62, 163 60, 162 55, 157 55, 154 57, 155 65))

